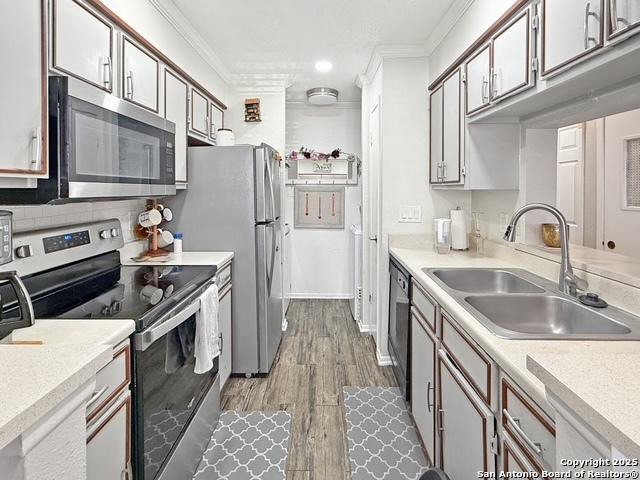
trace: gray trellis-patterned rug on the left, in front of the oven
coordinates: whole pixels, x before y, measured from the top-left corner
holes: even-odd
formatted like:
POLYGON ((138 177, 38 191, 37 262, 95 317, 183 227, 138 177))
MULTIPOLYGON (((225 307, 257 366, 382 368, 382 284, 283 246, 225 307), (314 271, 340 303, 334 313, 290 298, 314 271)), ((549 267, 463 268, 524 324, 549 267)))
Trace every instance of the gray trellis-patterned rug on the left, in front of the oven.
POLYGON ((285 480, 291 415, 223 412, 194 480, 285 480))

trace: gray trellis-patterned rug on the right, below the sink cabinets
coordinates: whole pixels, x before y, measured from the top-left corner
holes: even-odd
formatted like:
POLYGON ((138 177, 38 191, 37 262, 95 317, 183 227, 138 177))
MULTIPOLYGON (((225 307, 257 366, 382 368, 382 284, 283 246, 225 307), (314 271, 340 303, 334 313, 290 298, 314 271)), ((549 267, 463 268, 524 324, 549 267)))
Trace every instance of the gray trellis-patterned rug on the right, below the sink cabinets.
POLYGON ((427 471, 398 388, 344 387, 352 480, 414 480, 427 471))

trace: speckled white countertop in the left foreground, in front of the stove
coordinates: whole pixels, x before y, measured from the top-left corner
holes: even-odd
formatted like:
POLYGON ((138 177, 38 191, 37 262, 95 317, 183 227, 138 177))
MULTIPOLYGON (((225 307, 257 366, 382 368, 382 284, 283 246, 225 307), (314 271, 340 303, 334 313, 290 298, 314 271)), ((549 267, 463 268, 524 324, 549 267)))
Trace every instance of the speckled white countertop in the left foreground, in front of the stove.
POLYGON ((132 320, 37 320, 0 344, 0 449, 35 425, 113 358, 132 320), (42 345, 11 345, 14 341, 42 345))

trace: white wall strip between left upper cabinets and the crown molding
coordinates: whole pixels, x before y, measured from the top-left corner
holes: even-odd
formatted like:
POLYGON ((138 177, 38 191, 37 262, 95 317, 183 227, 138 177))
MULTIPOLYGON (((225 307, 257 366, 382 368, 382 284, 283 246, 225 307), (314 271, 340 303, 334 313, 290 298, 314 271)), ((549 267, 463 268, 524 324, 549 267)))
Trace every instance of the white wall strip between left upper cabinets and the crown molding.
POLYGON ((150 0, 102 0, 102 2, 220 101, 223 103, 228 101, 228 85, 219 73, 150 0))

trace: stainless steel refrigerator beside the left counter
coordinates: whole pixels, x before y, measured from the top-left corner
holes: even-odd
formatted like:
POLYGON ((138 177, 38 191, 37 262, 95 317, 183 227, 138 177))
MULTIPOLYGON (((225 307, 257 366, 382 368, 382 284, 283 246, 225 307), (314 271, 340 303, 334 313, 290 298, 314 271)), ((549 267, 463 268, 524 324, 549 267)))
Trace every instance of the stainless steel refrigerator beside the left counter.
POLYGON ((190 147, 189 187, 168 203, 185 251, 232 251, 232 371, 268 373, 282 337, 280 162, 262 144, 190 147))

